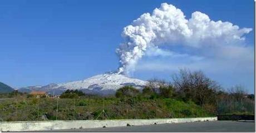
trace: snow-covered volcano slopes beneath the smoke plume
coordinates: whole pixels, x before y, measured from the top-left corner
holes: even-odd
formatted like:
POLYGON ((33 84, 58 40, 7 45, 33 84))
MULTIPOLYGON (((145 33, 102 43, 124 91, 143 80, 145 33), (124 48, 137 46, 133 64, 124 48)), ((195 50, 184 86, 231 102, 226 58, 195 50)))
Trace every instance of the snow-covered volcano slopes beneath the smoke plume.
POLYGON ((138 89, 141 89, 146 85, 147 81, 139 80, 136 78, 131 78, 125 75, 117 73, 105 73, 102 75, 96 75, 85 80, 73 81, 67 83, 51 83, 46 86, 29 86, 19 88, 19 91, 29 92, 30 91, 47 91, 55 94, 60 94, 61 92, 70 90, 81 90, 85 93, 96 93, 100 95, 107 95, 114 93, 117 89, 122 86, 131 85, 138 89))

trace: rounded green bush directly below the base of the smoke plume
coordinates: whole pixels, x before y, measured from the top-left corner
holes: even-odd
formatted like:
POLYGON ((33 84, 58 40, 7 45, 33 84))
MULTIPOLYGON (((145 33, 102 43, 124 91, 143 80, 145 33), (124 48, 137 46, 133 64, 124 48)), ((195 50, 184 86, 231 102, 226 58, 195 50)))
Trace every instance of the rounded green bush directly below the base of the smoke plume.
POLYGON ((139 94, 139 90, 132 86, 124 86, 116 91, 116 97, 135 97, 139 94))

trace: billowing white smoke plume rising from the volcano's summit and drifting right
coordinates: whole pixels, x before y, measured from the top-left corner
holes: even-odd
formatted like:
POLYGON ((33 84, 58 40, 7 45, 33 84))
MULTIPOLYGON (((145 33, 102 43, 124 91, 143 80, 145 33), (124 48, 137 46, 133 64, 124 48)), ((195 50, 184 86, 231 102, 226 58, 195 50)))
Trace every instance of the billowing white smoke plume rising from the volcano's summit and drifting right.
POLYGON ((120 56, 119 73, 129 74, 134 71, 137 61, 145 53, 153 56, 176 55, 171 49, 161 50, 160 46, 239 46, 245 40, 243 35, 250 31, 252 28, 239 28, 230 22, 212 21, 206 14, 198 11, 192 13, 190 19, 186 19, 180 9, 162 3, 152 14, 144 13, 124 28, 124 42, 116 50, 120 56))

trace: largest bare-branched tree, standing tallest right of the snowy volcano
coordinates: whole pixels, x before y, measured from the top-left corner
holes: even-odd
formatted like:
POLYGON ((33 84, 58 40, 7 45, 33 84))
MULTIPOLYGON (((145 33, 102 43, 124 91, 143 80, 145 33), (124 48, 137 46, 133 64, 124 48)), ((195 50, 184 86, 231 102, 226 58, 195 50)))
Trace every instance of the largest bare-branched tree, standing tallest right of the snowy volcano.
POLYGON ((200 105, 215 104, 216 92, 220 89, 220 86, 202 71, 191 72, 188 69, 181 69, 178 74, 174 74, 173 84, 185 100, 193 100, 200 105))

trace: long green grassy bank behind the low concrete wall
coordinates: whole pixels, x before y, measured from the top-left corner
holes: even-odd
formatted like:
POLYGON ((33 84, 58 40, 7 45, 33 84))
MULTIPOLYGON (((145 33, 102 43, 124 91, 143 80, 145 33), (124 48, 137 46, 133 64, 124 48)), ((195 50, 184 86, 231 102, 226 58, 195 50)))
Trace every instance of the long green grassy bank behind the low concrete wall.
MULTIPOLYGON (((58 100, 58 120, 89 119, 154 119, 171 117, 203 117, 213 116, 193 102, 185 103, 170 98, 156 100, 136 99, 121 100, 119 98, 82 98, 58 100), (106 115, 102 115, 104 108, 106 115)), ((45 115, 48 120, 56 120, 57 99, 40 98, 39 120, 45 115)), ((38 99, 14 98, 0 101, 0 121, 38 120, 38 99)))

